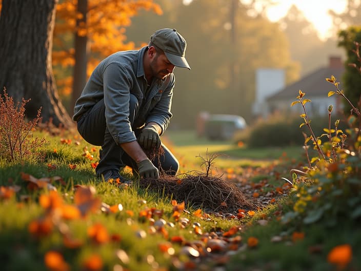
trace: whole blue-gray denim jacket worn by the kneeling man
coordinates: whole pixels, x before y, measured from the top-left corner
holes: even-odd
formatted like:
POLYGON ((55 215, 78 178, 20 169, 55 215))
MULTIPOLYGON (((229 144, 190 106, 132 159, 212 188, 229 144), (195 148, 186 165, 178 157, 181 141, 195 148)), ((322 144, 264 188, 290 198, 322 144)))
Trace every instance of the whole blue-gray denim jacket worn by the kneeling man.
POLYGON ((161 126, 163 133, 172 117, 175 77, 171 73, 164 80, 154 79, 146 99, 147 80, 143 68, 146 50, 147 46, 140 50, 116 52, 99 63, 75 103, 73 120, 77 121, 104 98, 107 127, 117 144, 135 141, 133 129, 149 122, 161 126), (130 93, 139 102, 133 127, 129 121, 130 93))

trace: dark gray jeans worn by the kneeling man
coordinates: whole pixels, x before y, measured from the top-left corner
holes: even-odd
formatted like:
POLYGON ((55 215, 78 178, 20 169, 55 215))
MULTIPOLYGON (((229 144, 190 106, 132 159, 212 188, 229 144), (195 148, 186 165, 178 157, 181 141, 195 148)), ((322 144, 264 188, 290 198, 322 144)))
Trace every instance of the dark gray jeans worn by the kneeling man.
MULTIPOLYGON (((134 123, 134 118, 138 110, 138 100, 133 94, 130 94, 129 103, 129 121, 131 125, 134 123)), ((96 175, 101 176, 107 170, 117 169, 130 166, 133 172, 137 172, 137 165, 133 159, 117 145, 110 134, 107 122, 105 119, 105 105, 104 99, 97 102, 91 109, 89 109, 77 122, 77 129, 82 137, 90 144, 102 146, 99 150, 100 161, 95 169, 96 175)), ((134 130, 135 134, 139 133, 139 129, 134 130)), ((172 152, 162 143, 164 148, 164 155, 155 158, 152 162, 158 169, 163 169, 169 175, 176 175, 179 169, 179 163, 172 152), (161 163, 159 165, 158 163, 161 163)))

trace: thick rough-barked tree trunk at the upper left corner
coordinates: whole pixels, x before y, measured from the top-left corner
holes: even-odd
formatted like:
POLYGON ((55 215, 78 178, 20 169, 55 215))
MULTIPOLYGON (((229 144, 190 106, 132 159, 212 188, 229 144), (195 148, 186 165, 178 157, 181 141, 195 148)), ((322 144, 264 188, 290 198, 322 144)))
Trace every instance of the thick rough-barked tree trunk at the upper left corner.
POLYGON ((31 99, 29 119, 42 107, 43 122, 74 124, 58 98, 51 50, 58 0, 3 0, 0 16, 0 87, 14 101, 31 99))

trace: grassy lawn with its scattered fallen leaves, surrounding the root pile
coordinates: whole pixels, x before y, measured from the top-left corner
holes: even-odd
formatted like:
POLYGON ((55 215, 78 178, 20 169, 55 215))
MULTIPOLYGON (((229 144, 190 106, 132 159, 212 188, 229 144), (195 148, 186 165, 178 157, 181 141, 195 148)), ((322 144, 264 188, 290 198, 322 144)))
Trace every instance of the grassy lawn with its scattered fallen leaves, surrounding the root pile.
POLYGON ((218 153, 214 175, 263 206, 224 214, 141 189, 129 171, 124 173, 133 178, 131 186, 96 179, 99 148, 76 133, 35 135, 47 140, 38 149, 44 161, 0 160, 4 270, 361 268, 359 220, 305 225, 286 219, 299 198, 282 177, 295 181, 290 169, 302 169, 301 147, 248 149, 196 139, 190 131, 167 132, 164 142, 182 173, 204 172, 198 156, 218 153), (333 249, 336 260, 330 260, 333 249))

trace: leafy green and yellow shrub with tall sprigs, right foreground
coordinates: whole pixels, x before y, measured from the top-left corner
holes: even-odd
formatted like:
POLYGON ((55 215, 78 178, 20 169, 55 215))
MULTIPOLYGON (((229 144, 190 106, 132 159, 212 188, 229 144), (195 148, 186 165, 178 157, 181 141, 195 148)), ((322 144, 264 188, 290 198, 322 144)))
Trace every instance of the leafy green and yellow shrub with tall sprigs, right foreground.
MULTIPOLYGON (((338 94, 347 100, 334 76, 326 80, 336 87, 329 96, 338 94)), ((331 122, 333 107, 330 105, 329 124, 324 133, 316 136, 305 109, 305 104, 311 101, 304 97, 305 93, 299 91, 297 101, 292 105, 303 107, 304 114, 300 117, 309 135, 306 135, 304 144, 307 147, 311 143, 318 156, 308 159, 304 175, 298 178, 293 173, 296 201, 293 211, 288 212, 283 221, 300 220, 310 224, 324 218, 327 226, 336 226, 345 219, 357 223, 361 218, 361 113, 347 100, 353 110, 348 118, 349 128, 342 130, 338 127, 338 120, 334 124, 331 122)))

